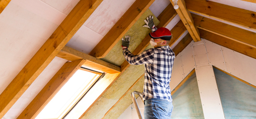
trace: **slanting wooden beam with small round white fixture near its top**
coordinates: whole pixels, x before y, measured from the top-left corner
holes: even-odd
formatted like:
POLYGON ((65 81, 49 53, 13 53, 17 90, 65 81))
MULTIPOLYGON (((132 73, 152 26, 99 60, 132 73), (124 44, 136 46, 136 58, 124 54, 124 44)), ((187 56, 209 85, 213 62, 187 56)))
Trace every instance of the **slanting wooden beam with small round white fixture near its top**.
MULTIPOLYGON (((172 0, 170 0, 170 1, 171 1, 172 5, 174 6, 173 1, 172 0)), ((178 13, 178 16, 180 17, 180 19, 184 23, 185 27, 189 31, 190 36, 192 37, 192 39, 195 42, 200 41, 201 40, 200 34, 198 32, 198 29, 194 25, 194 21, 191 17, 190 12, 186 8, 186 4, 185 4, 184 0, 178 0, 178 7, 179 8, 176 10, 178 13)))

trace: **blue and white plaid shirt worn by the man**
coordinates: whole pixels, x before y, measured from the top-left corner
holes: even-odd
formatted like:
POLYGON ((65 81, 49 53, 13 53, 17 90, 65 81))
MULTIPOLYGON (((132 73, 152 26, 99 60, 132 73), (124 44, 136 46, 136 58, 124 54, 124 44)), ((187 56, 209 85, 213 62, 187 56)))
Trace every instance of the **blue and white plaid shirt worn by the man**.
POLYGON ((143 100, 156 98, 172 102, 169 83, 175 54, 168 45, 145 50, 139 55, 133 55, 128 49, 122 53, 130 64, 145 64, 143 100))

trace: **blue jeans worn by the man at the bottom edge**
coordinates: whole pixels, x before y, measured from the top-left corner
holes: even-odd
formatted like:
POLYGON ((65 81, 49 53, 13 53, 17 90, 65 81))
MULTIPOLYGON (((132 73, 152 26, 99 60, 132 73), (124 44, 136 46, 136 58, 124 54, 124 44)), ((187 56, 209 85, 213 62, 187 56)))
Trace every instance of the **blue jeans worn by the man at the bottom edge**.
POLYGON ((145 119, 171 119, 172 102, 164 99, 146 99, 144 107, 145 119))

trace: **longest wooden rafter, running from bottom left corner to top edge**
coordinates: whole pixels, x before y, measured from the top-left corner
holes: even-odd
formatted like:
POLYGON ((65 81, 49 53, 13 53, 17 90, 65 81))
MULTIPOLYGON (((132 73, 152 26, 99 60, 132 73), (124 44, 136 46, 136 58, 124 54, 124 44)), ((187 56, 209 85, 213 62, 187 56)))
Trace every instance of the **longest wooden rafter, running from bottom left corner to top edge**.
POLYGON ((66 19, 0 95, 0 118, 56 57, 102 0, 80 0, 66 19))

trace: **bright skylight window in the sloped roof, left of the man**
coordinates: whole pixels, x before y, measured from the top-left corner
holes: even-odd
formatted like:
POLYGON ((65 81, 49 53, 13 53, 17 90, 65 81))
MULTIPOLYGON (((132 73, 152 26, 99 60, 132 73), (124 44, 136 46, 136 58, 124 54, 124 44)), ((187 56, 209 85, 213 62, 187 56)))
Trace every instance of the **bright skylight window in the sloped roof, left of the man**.
MULTIPOLYGON (((74 106, 79 99, 86 94, 89 88, 100 78, 100 75, 101 73, 96 71, 78 69, 35 119, 62 119, 72 108, 75 108, 74 106)), ((75 117, 78 116, 79 118, 83 112, 78 112, 80 115, 75 115, 75 117)), ((68 114, 68 117, 76 119, 72 114, 68 114)))

